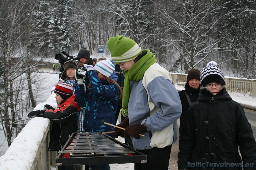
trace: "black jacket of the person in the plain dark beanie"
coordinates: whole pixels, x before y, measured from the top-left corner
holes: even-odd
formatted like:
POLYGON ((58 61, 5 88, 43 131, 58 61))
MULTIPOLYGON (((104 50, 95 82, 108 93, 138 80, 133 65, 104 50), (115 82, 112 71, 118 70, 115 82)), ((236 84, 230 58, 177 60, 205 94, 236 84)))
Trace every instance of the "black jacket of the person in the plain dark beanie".
POLYGON ((180 127, 183 126, 185 114, 189 108, 189 103, 188 103, 188 99, 185 94, 185 91, 187 92, 191 103, 194 103, 197 101, 197 99, 199 97, 200 88, 195 89, 193 87, 190 87, 189 84, 186 83, 185 90, 179 91, 180 101, 181 101, 181 105, 182 105, 182 112, 181 112, 181 116, 180 116, 180 127))

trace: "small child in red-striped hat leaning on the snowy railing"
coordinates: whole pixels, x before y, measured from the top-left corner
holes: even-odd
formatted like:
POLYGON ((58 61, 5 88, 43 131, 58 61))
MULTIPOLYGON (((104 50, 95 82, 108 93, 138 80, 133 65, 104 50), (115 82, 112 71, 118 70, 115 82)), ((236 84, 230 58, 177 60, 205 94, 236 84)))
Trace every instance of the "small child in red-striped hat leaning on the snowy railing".
MULTIPOLYGON (((48 110, 31 111, 29 118, 43 117, 52 121, 52 129, 49 143, 49 151, 59 151, 65 145, 69 135, 78 130, 78 115, 80 110, 73 94, 70 84, 60 83, 54 89, 58 108, 55 109, 49 104, 45 107, 48 110)), ((59 170, 75 170, 74 166, 58 166, 59 170)))

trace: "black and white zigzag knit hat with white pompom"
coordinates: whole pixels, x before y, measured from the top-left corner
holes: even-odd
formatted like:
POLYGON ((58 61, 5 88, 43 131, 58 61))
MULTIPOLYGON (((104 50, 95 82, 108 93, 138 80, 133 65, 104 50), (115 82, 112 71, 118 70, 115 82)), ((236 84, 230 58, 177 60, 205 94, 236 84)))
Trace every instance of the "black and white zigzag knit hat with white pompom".
POLYGON ((203 68, 200 75, 200 86, 205 86, 208 83, 221 83, 225 85, 225 78, 221 69, 217 66, 216 62, 207 63, 206 67, 203 68))

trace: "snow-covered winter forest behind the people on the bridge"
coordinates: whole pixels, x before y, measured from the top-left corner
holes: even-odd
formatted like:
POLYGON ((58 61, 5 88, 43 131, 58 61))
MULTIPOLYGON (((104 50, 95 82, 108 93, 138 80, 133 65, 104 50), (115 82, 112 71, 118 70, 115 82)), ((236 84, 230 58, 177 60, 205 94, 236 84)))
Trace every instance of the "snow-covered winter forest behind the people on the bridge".
POLYGON ((111 36, 150 49, 170 72, 214 60, 227 76, 256 79, 255 0, 1 0, 0 13, 0 128, 8 146, 47 81, 34 70, 60 51, 97 51, 111 36))

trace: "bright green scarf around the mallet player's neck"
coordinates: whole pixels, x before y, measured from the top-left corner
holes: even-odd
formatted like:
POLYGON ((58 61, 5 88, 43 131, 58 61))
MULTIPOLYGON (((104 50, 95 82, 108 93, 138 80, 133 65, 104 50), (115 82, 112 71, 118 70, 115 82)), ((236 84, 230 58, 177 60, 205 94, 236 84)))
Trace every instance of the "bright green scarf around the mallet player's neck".
POLYGON ((130 80, 139 81, 143 78, 144 73, 147 71, 148 67, 157 62, 155 55, 153 55, 150 50, 143 50, 142 52, 147 51, 147 54, 139 59, 129 71, 123 71, 124 78, 124 90, 123 90, 123 99, 121 112, 123 116, 128 116, 128 102, 130 97, 130 80))

